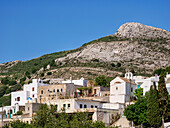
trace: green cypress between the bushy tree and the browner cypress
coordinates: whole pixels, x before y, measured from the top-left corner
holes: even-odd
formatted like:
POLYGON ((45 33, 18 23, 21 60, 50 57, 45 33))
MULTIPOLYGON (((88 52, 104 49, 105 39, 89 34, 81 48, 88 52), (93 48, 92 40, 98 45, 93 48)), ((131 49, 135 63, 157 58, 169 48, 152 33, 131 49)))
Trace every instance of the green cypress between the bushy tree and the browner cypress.
POLYGON ((161 125, 158 91, 156 90, 155 84, 150 87, 147 102, 147 118, 151 126, 159 127, 161 125))

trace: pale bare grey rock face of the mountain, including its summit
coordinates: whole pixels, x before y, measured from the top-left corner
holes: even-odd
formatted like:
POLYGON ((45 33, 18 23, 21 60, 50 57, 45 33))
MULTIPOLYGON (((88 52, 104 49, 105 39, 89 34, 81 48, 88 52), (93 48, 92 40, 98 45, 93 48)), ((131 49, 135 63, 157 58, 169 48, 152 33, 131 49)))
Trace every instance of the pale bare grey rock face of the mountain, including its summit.
POLYGON ((81 51, 56 59, 65 61, 77 58, 81 62, 98 59, 100 62, 129 65, 136 69, 150 70, 170 65, 170 32, 140 23, 126 23, 113 35, 127 41, 96 41, 81 51))

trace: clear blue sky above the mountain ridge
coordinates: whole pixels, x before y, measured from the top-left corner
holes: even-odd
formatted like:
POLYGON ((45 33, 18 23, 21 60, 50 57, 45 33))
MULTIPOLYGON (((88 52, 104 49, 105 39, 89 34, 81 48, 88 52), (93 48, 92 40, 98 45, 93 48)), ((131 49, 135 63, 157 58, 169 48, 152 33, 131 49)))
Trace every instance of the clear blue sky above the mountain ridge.
POLYGON ((126 22, 170 31, 170 1, 1 0, 0 63, 75 49, 126 22))

